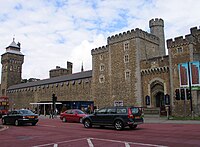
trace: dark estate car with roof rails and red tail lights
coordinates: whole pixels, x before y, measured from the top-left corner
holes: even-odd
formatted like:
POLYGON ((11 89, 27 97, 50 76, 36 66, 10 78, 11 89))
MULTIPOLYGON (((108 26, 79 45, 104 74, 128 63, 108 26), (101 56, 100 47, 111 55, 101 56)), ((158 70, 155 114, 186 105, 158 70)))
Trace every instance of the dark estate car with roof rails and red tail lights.
POLYGON ((142 109, 140 107, 125 106, 102 108, 94 112, 94 114, 87 115, 82 120, 85 128, 99 125, 114 126, 116 130, 122 130, 126 126, 135 129, 137 125, 143 122, 142 109))

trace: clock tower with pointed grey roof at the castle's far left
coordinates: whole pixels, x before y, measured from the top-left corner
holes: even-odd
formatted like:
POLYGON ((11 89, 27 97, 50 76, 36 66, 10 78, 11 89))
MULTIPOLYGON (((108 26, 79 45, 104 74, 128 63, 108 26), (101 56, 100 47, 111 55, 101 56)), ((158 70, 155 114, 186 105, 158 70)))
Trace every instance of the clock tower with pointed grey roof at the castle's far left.
POLYGON ((6 95, 9 86, 21 83, 22 64, 24 55, 20 52, 20 43, 13 42, 6 47, 6 52, 1 55, 1 95, 6 95))

